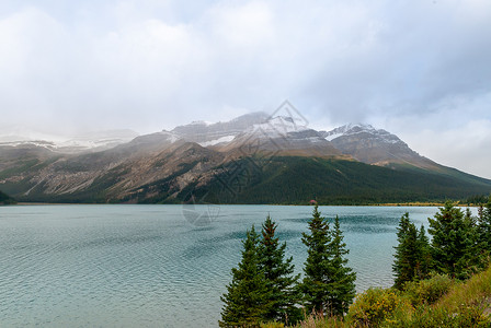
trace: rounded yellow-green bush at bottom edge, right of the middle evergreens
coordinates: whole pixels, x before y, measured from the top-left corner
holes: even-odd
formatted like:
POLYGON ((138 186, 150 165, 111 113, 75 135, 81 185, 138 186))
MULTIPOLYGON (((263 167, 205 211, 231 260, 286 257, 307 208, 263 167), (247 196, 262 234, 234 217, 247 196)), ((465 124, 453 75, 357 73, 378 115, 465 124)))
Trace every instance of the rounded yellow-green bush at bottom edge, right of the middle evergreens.
POLYGON ((375 327, 391 317, 401 302, 393 290, 369 289, 358 295, 346 319, 354 327, 375 327))

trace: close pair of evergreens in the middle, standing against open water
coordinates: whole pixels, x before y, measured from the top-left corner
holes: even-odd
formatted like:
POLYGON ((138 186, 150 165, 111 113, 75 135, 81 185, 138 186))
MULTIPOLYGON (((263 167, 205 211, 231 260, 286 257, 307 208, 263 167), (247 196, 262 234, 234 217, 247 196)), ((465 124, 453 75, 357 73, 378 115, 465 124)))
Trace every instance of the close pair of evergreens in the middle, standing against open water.
POLYGON ((309 221, 310 234, 302 234, 308 247, 305 262, 305 278, 301 283, 304 304, 308 312, 343 315, 353 301, 354 273, 346 268, 343 237, 338 225, 330 231, 329 223, 321 218, 318 206, 309 221))

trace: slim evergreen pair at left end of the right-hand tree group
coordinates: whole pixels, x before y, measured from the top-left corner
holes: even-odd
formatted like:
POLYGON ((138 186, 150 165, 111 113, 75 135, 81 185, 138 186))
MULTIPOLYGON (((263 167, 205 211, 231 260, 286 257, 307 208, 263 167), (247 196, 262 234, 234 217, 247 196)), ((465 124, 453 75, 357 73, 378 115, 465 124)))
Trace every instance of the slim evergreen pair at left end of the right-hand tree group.
POLYGON ((397 229, 398 245, 395 254, 395 261, 392 271, 396 276, 393 285, 397 289, 402 289, 408 281, 420 280, 426 278, 430 270, 431 255, 430 244, 421 225, 418 231, 414 223, 409 219, 409 213, 406 213, 399 220, 397 229))

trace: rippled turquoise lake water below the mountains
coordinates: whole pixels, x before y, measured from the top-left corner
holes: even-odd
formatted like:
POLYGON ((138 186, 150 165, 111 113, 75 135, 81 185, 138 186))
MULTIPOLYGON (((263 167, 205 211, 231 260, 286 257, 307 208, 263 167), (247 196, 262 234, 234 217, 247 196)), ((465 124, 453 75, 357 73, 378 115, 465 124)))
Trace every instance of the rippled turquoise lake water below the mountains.
MULTIPOLYGON (((216 327, 246 230, 270 213, 298 272, 311 207, 0 208, 1 327, 216 327)), ((436 208, 320 207, 340 215, 356 286, 392 283, 399 218, 436 208)))

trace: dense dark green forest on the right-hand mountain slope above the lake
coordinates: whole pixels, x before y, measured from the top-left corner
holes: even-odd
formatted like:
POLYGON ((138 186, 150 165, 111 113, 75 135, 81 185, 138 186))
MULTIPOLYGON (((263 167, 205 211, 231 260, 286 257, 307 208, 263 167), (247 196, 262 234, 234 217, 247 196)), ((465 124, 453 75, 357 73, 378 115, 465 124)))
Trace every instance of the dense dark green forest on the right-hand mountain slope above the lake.
POLYGON ((375 204, 444 202, 491 191, 491 181, 452 169, 391 169, 297 156, 273 157, 267 163, 244 157, 233 164, 236 174, 217 175, 207 186, 190 186, 178 199, 187 201, 193 194, 210 203, 307 204, 313 199, 320 204, 375 204))

